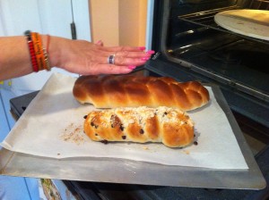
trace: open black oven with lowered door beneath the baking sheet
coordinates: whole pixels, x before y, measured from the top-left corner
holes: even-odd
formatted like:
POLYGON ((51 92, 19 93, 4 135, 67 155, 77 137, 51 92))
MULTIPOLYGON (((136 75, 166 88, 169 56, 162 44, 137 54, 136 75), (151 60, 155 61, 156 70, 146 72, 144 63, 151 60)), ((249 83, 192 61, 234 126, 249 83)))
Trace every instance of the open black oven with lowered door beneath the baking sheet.
MULTIPOLYGON (((221 28, 219 12, 268 10, 267 0, 154 1, 152 49, 156 54, 137 69, 145 75, 178 81, 199 80, 221 88, 240 129, 263 141, 256 162, 269 179, 269 41, 221 28)), ((11 101, 18 116, 36 94, 11 101)), ((70 181, 65 185, 78 199, 266 199, 261 190, 162 187, 70 181)))

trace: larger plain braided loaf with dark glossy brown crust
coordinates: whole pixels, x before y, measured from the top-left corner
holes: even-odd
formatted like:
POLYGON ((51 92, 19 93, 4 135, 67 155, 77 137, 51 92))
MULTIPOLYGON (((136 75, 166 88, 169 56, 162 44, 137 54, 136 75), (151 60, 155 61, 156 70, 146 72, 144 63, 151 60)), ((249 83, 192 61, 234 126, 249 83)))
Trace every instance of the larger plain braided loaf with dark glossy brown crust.
POLYGON ((80 103, 96 108, 168 106, 190 111, 209 101, 207 89, 199 82, 180 83, 168 77, 81 76, 73 93, 80 103))

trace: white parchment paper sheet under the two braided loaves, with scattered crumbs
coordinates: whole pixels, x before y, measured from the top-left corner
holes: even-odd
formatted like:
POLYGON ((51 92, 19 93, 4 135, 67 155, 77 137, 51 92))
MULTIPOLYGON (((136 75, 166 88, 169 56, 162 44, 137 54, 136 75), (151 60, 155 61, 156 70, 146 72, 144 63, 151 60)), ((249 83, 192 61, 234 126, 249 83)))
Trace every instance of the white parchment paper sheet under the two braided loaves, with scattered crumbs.
POLYGON ((73 77, 53 74, 1 146, 13 152, 56 159, 91 156, 212 169, 248 169, 211 87, 207 87, 210 103, 188 112, 195 121, 198 145, 180 149, 157 143, 110 142, 105 145, 91 141, 83 134, 82 124, 84 115, 95 108, 74 99, 74 81, 73 77))

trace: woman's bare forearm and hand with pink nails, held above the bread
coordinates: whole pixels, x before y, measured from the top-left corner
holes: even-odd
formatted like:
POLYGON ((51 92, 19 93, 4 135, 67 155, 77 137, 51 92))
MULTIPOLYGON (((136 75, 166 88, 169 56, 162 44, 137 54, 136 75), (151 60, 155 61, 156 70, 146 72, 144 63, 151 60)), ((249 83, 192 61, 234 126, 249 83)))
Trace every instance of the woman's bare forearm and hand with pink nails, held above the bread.
MULTIPOLYGON (((146 63, 154 53, 144 52, 143 46, 107 47, 85 40, 54 36, 48 40, 48 35, 40 36, 51 67, 82 75, 129 73, 136 66, 146 63), (108 63, 112 55, 114 62, 108 63)), ((27 37, 0 37, 0 80, 20 77, 33 71, 27 37)))

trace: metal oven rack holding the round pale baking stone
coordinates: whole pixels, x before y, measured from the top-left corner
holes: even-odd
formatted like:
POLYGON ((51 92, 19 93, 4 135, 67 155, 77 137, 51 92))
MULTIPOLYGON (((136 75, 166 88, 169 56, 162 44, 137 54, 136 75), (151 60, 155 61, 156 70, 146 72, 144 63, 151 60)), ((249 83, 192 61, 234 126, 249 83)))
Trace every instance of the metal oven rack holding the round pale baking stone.
MULTIPOLYGON (((269 0, 268 0, 268 4, 269 4, 269 0)), ((203 31, 205 29, 215 29, 218 31, 222 31, 228 34, 233 34, 233 35, 237 35, 239 37, 248 39, 248 40, 252 40, 252 41, 256 41, 259 43, 263 43, 265 45, 269 45, 269 41, 266 41, 264 39, 258 39, 258 38, 254 38, 254 37, 247 37, 247 36, 243 36, 240 35, 238 33, 232 32, 228 29, 223 29, 221 28, 221 26, 219 26, 215 21, 214 21, 214 15, 217 14, 218 12, 223 12, 223 11, 228 11, 228 10, 234 10, 234 9, 242 9, 242 7, 239 6, 230 6, 230 7, 224 7, 224 8, 219 8, 219 9, 213 9, 213 10, 209 10, 209 11, 203 11, 203 12, 195 12, 195 13, 191 13, 191 14, 185 14, 185 15, 178 15, 178 20, 179 21, 187 21, 189 23, 201 26, 202 28, 200 29, 189 29, 185 32, 182 33, 178 33, 176 36, 180 37, 184 34, 187 34, 189 32, 195 32, 195 31, 203 31)))

